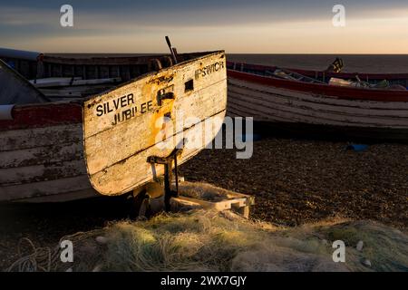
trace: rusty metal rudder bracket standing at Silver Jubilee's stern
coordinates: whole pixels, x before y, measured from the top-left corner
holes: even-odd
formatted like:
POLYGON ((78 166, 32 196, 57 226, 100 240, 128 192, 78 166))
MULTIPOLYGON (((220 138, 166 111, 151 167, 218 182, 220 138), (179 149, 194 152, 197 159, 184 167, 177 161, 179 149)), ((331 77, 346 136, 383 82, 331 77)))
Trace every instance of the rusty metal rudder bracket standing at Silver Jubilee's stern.
MULTIPOLYGON (((184 144, 184 140, 183 143, 184 144)), ((151 164, 164 165, 164 204, 166 211, 170 211, 170 198, 179 196, 179 173, 177 169, 177 157, 181 154, 182 148, 175 148, 167 157, 149 156, 147 161, 151 164), (174 161, 174 173, 176 178, 176 190, 171 190, 172 164, 174 161)))

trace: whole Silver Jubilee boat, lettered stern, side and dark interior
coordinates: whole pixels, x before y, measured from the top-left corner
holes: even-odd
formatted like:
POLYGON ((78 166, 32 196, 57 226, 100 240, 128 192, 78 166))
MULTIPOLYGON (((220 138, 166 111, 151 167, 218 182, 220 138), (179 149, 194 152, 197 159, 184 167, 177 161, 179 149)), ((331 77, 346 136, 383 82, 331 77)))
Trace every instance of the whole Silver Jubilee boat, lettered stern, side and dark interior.
MULTIPOLYGON (((120 81, 97 83, 92 90, 99 92, 59 102, 49 102, 53 96, 45 96, 35 83, 25 83, 26 91, 17 90, 15 98, 0 90, 0 201, 113 196, 139 189, 166 173, 160 160, 169 164, 170 157, 181 164, 205 148, 225 116, 227 70, 221 51, 179 54, 178 63, 168 55, 1 54, 27 79, 120 81), (38 102, 32 103, 35 97, 38 102), (192 117, 195 121, 188 121, 192 117), (213 126, 206 131, 210 136, 189 146, 202 134, 198 125, 204 121, 213 126)), ((1 63, 0 87, 7 80, 21 88, 24 77, 10 70, 1 63)))

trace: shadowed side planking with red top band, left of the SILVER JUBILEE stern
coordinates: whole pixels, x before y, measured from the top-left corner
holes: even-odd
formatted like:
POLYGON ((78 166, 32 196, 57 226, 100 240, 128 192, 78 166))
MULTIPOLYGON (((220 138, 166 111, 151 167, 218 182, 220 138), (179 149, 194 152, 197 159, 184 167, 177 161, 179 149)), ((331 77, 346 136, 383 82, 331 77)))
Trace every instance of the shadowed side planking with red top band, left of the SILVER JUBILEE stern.
POLYGON ((80 104, 15 107, 0 121, 0 201, 96 196, 83 160, 80 104))

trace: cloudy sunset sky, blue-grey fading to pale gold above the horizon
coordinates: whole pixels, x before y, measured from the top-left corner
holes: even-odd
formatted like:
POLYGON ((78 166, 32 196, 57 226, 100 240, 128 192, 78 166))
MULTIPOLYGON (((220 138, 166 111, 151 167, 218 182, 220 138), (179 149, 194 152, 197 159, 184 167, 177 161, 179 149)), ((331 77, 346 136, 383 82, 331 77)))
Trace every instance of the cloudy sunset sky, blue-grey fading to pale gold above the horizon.
POLYGON ((408 0, 0 1, 0 47, 53 53, 408 53, 408 0), (60 7, 73 6, 73 27, 60 7), (345 27, 332 23, 345 6, 345 27))

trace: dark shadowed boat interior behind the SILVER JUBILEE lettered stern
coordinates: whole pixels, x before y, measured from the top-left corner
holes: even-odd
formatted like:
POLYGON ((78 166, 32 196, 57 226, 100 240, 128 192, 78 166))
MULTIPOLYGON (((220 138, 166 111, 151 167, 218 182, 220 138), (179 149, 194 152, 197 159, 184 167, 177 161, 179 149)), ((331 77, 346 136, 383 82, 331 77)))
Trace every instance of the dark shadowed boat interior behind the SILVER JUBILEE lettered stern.
MULTIPOLYGON (((202 53, 178 54, 179 62, 202 53)), ((105 56, 45 54, 0 48, 0 59, 30 80, 51 101, 86 97, 174 64, 170 55, 105 56)))

